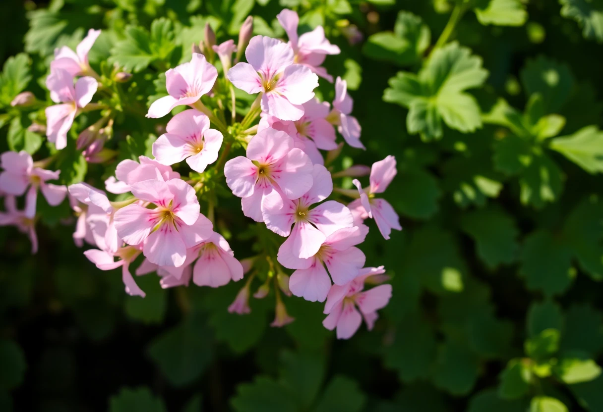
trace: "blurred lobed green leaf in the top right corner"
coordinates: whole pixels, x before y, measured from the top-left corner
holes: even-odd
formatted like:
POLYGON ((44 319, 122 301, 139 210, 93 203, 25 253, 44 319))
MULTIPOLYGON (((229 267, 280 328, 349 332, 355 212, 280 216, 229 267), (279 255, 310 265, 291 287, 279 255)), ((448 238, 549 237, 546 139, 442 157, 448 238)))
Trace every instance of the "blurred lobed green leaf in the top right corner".
POLYGON ((576 20, 585 39, 603 42, 603 2, 601 0, 560 0, 561 16, 576 20))

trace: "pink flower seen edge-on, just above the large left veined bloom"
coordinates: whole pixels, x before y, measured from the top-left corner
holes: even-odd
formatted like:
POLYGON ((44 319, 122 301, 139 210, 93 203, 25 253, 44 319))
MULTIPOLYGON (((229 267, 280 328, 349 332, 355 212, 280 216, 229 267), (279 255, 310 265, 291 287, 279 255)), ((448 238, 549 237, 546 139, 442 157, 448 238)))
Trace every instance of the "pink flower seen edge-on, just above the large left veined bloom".
POLYGON ((179 179, 180 173, 174 172, 171 167, 159 163, 146 156, 139 156, 140 163, 126 159, 119 162, 115 169, 115 177, 111 176, 105 181, 107 192, 120 193, 130 192, 130 186, 144 180, 159 179, 168 181, 179 179))

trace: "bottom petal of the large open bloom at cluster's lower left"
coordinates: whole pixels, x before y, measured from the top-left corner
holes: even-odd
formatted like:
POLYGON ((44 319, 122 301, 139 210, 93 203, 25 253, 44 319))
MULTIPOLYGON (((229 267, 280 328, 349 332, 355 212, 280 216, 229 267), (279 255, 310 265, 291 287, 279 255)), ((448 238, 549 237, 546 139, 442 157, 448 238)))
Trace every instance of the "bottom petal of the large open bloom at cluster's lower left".
MULTIPOLYGON (((127 242, 126 242, 127 243, 127 242)), ((159 266, 179 267, 186 260, 186 245, 171 223, 164 222, 145 240, 145 257, 159 266)))

